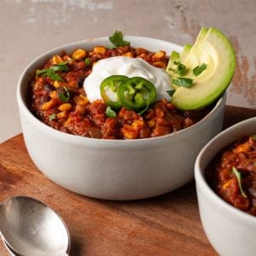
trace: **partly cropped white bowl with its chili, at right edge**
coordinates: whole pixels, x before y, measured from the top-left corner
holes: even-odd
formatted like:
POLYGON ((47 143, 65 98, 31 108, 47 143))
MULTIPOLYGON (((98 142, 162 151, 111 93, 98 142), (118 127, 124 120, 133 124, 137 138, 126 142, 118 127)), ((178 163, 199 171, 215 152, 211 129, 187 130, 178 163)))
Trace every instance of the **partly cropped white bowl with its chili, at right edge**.
POLYGON ((256 118, 214 137, 195 161, 201 222, 220 255, 254 255, 256 118))

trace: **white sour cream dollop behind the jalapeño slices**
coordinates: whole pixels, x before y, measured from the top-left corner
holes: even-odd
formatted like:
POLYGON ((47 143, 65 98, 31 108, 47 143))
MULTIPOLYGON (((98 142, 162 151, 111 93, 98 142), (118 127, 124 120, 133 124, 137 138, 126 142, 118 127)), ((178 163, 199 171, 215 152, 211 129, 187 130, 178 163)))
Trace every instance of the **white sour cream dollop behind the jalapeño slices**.
POLYGON ((165 70, 154 67, 140 58, 117 56, 98 61, 84 80, 84 90, 90 102, 102 99, 100 90, 102 81, 112 75, 147 79, 154 84, 157 92, 156 100, 170 99, 166 91, 172 88, 171 79, 165 70))

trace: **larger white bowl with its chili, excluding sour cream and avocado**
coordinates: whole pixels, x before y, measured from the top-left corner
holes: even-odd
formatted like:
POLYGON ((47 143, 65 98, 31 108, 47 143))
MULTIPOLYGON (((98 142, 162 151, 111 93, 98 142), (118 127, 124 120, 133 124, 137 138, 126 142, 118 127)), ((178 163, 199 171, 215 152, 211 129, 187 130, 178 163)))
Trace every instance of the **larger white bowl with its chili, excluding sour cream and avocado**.
POLYGON ((196 155, 222 129, 225 93, 208 108, 180 111, 159 95, 151 102, 154 90, 148 79, 133 83, 137 75, 125 78, 118 92, 129 98, 129 90, 134 90, 130 85, 142 84, 146 102, 137 96, 137 101, 128 102, 137 102, 131 109, 127 102, 126 108, 125 102, 114 108, 115 89, 109 90, 113 77, 105 80, 108 88, 102 83, 98 90, 105 101, 110 97, 111 109, 102 100, 88 102, 82 84, 102 56, 104 61, 108 55, 140 55, 160 71, 168 60, 165 53, 183 49, 154 38, 125 40, 130 48, 111 49, 106 37, 52 49, 26 67, 18 84, 21 126, 33 162, 49 179, 81 195, 135 200, 177 189, 193 179, 196 155), (77 57, 83 49, 86 55, 77 57))

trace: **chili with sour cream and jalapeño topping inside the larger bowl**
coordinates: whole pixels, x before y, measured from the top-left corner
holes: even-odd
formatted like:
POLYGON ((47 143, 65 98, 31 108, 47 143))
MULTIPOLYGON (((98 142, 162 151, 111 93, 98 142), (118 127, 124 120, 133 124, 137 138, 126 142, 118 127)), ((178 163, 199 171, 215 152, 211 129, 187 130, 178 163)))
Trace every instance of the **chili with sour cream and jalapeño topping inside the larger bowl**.
POLYGON ((164 50, 152 52, 131 45, 79 48, 70 55, 53 55, 32 79, 29 108, 44 124, 82 137, 164 136, 195 125, 214 105, 193 111, 178 110, 169 101, 167 62, 164 50), (114 75, 106 78, 105 73, 111 72, 114 75), (144 78, 138 77, 141 73, 144 78), (154 84, 145 79, 153 74, 154 84), (98 84, 101 84, 99 96, 98 84), (126 96, 130 91, 134 95, 126 96), (142 92, 148 94, 147 99, 142 92), (111 99, 114 93, 119 101, 117 96, 111 99))

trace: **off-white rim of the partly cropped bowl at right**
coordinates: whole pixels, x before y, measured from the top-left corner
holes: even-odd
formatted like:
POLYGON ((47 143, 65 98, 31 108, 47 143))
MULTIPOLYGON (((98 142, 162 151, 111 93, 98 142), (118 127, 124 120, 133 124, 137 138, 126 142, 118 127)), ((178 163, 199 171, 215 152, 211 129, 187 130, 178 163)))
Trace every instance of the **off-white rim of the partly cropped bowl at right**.
MULTIPOLYGON (((210 186, 208 185, 206 178, 205 178, 205 170, 202 170, 202 168, 201 168, 201 159, 204 157, 204 154, 207 151, 207 148, 210 145, 212 145, 212 143, 216 143, 219 140, 221 140, 223 137, 228 136, 230 131, 236 131, 236 129, 238 129, 239 127, 246 126, 247 124, 249 124, 251 122, 256 123, 256 117, 245 119, 239 123, 236 123, 235 125, 231 125, 229 128, 220 132, 216 137, 213 137, 212 140, 210 140, 201 149, 201 152, 197 155, 197 158, 195 160, 195 184, 196 184, 196 186, 198 186, 199 189, 204 191, 204 196, 206 196, 210 201, 212 201, 215 205, 218 205, 218 207, 221 207, 222 209, 224 209, 224 211, 228 211, 234 217, 241 220, 243 222, 243 224, 245 224, 245 221, 254 222, 254 224, 256 224, 256 216, 250 215, 247 212, 243 212, 242 210, 231 206, 228 202, 224 201, 221 197, 219 197, 210 188, 210 186)), ((234 138, 234 141, 236 141, 236 138, 234 138)), ((228 145, 229 144, 227 144, 226 146, 228 146, 228 145)), ((222 147, 222 148, 224 148, 224 147, 222 147)), ((221 150, 222 148, 220 148, 219 150, 221 150)), ((212 158, 214 156, 215 155, 213 155, 212 158)), ((211 160, 212 160, 212 158, 211 158, 211 160)), ((197 189, 196 189, 196 194, 198 194, 197 189)))

